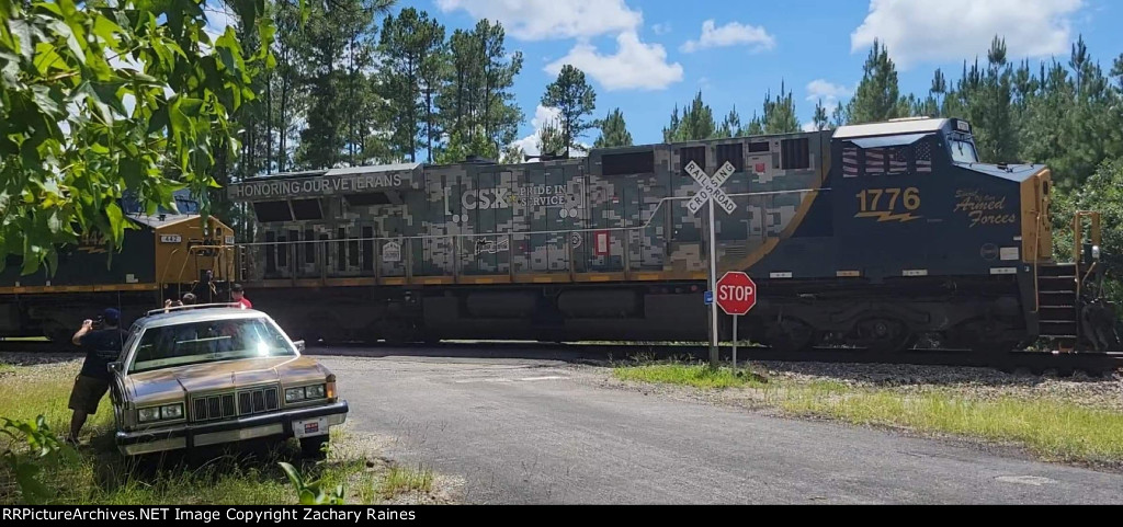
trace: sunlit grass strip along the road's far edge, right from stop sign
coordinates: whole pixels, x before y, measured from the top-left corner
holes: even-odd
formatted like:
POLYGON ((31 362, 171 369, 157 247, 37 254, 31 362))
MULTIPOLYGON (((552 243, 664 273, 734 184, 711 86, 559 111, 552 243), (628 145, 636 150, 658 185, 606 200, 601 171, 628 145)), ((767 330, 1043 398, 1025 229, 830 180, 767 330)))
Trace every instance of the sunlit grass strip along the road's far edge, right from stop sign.
POLYGON ((1063 400, 983 399, 941 387, 906 394, 822 380, 760 385, 733 377, 728 369, 676 362, 622 366, 613 369, 613 376, 702 389, 740 388, 791 415, 1014 443, 1050 461, 1123 465, 1123 414, 1063 400))

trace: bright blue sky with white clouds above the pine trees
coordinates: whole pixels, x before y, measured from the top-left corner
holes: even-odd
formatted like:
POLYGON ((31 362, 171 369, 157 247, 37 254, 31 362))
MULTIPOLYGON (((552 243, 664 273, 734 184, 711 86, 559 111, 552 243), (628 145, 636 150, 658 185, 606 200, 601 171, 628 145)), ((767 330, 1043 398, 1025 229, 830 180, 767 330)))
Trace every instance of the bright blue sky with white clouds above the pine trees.
MULTIPOLYGON (((928 93, 932 72, 959 77, 964 59, 1004 36, 1012 61, 1066 62, 1083 35, 1105 70, 1123 53, 1117 0, 404 0, 450 34, 481 18, 506 29, 521 50, 514 91, 526 119, 520 145, 553 113, 542 92, 564 64, 585 72, 596 91, 594 117, 620 108, 637 145, 659 142, 677 103, 700 90, 715 119, 734 105, 747 122, 765 93, 783 83, 801 122, 815 101, 844 103, 861 78, 874 38, 888 46, 902 93, 928 93)), ((217 21, 221 24, 221 21, 217 21)), ((591 130, 582 142, 597 136, 591 130)))

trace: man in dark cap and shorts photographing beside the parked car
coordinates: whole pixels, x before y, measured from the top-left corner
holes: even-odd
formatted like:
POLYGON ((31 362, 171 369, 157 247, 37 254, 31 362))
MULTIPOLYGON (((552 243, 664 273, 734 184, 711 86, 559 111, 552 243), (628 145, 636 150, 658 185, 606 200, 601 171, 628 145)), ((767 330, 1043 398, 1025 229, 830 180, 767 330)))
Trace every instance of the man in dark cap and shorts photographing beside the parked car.
POLYGON ((77 435, 85 425, 86 416, 98 412, 101 398, 109 391, 109 383, 113 380, 109 363, 118 359, 125 346, 127 332, 120 327, 121 313, 110 307, 102 313, 101 318, 102 329, 94 330, 93 321, 86 320, 71 339, 74 345, 85 350, 85 361, 81 372, 74 378, 69 405, 74 415, 71 417, 66 442, 74 445, 77 444, 77 435))

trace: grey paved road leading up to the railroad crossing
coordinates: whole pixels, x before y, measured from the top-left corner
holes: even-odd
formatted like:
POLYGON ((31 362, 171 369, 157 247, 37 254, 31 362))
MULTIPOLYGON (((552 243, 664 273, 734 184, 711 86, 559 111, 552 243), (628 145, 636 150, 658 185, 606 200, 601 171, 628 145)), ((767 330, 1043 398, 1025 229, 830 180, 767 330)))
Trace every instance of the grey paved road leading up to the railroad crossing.
MULTIPOLYGON (((319 350, 320 353, 355 350, 319 350)), ((485 503, 1123 503, 1123 475, 606 388, 524 358, 321 357, 350 427, 485 503)))

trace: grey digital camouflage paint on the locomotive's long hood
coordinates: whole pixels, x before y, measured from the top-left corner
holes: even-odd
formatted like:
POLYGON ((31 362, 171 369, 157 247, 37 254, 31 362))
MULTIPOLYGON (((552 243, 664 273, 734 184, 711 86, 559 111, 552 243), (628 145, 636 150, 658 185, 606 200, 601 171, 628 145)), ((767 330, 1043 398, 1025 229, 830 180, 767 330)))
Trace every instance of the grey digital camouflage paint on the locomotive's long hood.
MULTIPOLYGON (((686 198, 699 189, 682 169, 690 159, 706 174, 725 160, 743 167, 722 187, 738 209, 715 214, 719 266, 730 268, 797 221, 801 205, 816 194, 780 192, 822 185, 829 141, 830 132, 811 132, 603 149, 585 158, 520 165, 355 167, 250 182, 350 177, 334 175, 345 172, 392 174, 400 184, 328 195, 262 195, 240 188, 250 184, 244 183, 229 192, 234 200, 250 202, 316 198, 322 210, 321 220, 262 222, 257 244, 247 248, 246 279, 292 278, 294 270, 296 278, 568 274, 570 267, 575 272, 628 267, 688 274, 705 270, 707 253, 706 211, 692 214, 686 207, 686 198), (785 142, 800 139, 806 147, 798 156, 782 155, 785 142), (619 161, 627 155, 650 160, 630 170, 619 161), (613 156, 613 169, 605 170, 613 156), (348 200, 372 192, 380 196, 377 204, 348 200), (757 195, 745 195, 749 193, 757 195), (597 247, 604 237, 606 250, 604 243, 597 247), (264 244, 268 240, 272 244, 264 244), (274 265, 266 266, 271 248, 274 265)), ((304 184, 325 186, 323 181, 304 184)))

